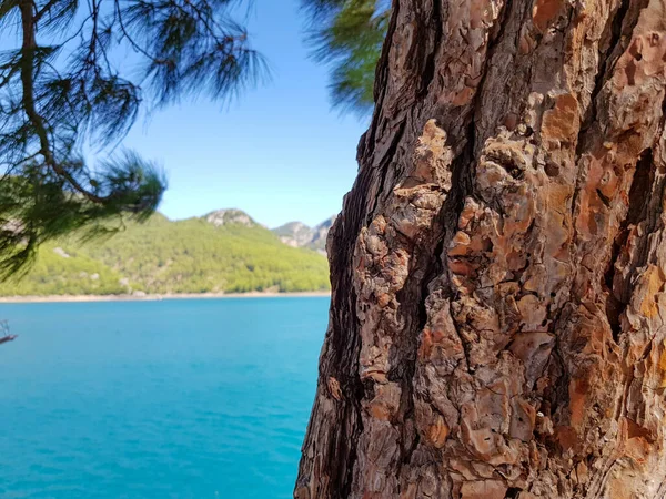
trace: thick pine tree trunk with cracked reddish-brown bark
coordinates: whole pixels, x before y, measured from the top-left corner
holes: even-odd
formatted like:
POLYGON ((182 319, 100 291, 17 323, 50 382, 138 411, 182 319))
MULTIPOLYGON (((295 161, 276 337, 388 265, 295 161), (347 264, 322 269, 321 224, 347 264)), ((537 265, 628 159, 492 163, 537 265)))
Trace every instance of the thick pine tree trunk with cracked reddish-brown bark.
POLYGON ((666 495, 666 0, 397 0, 294 497, 666 495))

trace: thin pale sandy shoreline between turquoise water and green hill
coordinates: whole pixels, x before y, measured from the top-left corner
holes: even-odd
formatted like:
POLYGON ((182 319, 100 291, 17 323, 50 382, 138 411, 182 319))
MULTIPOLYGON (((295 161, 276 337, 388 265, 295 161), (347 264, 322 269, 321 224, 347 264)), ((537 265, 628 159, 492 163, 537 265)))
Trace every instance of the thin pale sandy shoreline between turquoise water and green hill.
POLYGON ((164 299, 218 299, 218 298, 315 298, 330 297, 331 292, 294 293, 167 293, 163 295, 49 295, 0 296, 3 303, 84 303, 84 302, 161 302, 164 299))

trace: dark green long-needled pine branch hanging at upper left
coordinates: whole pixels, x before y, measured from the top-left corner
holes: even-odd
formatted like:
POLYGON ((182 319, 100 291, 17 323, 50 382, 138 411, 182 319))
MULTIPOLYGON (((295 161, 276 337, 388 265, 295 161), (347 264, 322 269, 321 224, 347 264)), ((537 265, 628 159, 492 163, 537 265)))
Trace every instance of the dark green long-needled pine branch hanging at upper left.
POLYGON ((161 200, 165 180, 152 163, 125 152, 93 171, 78 154, 120 141, 143 102, 141 86, 110 61, 115 45, 143 59, 142 82, 160 104, 202 91, 222 99, 262 74, 224 0, 102 3, 0 2, 0 21, 20 28, 19 49, 0 52, 0 279, 24 272, 46 241, 115 232, 125 216, 147 220, 161 200))

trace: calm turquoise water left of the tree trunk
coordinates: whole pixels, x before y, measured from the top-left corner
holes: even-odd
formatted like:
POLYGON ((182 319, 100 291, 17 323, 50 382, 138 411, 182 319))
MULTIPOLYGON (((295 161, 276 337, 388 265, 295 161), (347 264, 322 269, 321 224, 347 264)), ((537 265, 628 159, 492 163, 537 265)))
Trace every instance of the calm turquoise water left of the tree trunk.
POLYGON ((327 306, 0 305, 0 497, 291 497, 327 306))

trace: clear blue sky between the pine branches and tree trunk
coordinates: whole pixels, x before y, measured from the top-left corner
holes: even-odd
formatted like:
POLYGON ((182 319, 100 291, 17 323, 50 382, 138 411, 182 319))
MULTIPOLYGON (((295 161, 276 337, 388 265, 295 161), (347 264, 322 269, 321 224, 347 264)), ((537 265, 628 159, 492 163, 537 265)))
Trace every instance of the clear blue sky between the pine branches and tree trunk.
POLYGON ((314 225, 340 211, 366 123, 331 109, 297 0, 255 0, 248 24, 272 81, 230 105, 200 98, 154 112, 123 144, 167 170, 170 218, 238 207, 270 227, 314 225))

